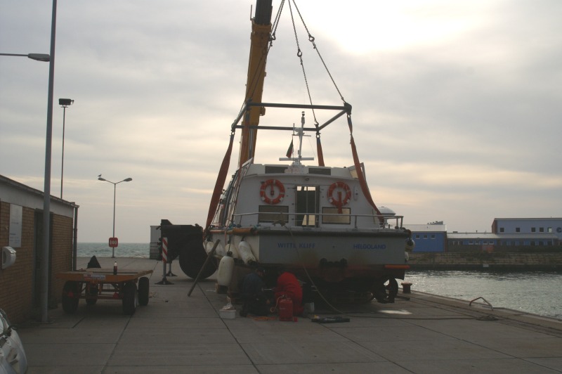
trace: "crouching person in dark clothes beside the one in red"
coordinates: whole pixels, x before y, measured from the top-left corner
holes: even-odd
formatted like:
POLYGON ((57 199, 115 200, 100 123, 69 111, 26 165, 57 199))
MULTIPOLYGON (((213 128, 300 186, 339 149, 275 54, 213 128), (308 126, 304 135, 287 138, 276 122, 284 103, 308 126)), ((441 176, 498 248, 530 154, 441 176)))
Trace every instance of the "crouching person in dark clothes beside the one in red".
POLYGON ((263 292, 263 289, 266 288, 266 283, 263 282, 264 275, 264 269, 258 268, 242 279, 240 290, 244 304, 240 316, 245 317, 248 314, 254 314, 255 316, 268 315, 269 302, 263 292))

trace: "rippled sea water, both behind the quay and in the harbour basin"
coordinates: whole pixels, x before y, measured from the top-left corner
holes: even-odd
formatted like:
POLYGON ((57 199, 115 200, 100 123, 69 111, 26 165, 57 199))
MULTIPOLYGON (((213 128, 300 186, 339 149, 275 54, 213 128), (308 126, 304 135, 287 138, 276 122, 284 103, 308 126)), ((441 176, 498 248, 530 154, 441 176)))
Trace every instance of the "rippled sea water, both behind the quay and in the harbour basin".
MULTIPOLYGON (((107 243, 78 243, 78 257, 111 257, 107 243)), ((150 257, 149 243, 119 243, 115 257, 150 257)), ((412 290, 562 319, 562 271, 408 271, 412 290), (478 302, 482 302, 481 299, 478 302)))

